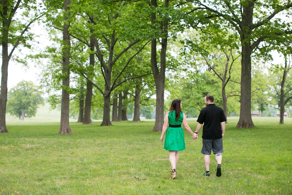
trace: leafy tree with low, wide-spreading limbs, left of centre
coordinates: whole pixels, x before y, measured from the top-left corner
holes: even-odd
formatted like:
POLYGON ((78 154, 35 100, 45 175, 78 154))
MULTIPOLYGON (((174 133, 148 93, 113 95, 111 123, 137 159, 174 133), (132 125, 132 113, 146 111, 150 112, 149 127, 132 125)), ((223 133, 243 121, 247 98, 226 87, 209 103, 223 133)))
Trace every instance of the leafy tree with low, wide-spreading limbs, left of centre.
MULTIPOLYGON (((136 4, 134 5, 128 1, 92 1, 91 3, 83 3, 84 4, 78 4, 77 6, 81 9, 79 15, 81 15, 81 19, 84 20, 84 25, 80 25, 80 28, 75 30, 71 36, 78 39, 80 42, 89 45, 89 43, 83 38, 85 30, 82 26, 88 26, 88 29, 94 29, 92 34, 95 35, 95 55, 100 62, 99 72, 104 79, 104 90, 102 90, 100 85, 97 85, 96 81, 89 78, 88 71, 80 70, 80 72, 88 82, 94 85, 100 93, 102 93, 104 97, 104 106, 101 126, 108 126, 111 125, 111 92, 127 80, 152 74, 147 73, 139 76, 132 75, 131 78, 119 81, 119 77, 127 68, 131 60, 146 46, 147 42, 144 42, 139 45, 139 50, 136 50, 133 56, 128 58, 128 60, 122 64, 122 68, 117 76, 112 78, 112 72, 116 69, 118 62, 120 61, 119 58, 124 53, 127 53, 132 46, 145 40, 145 32, 143 29, 147 29, 147 27, 145 27, 147 26, 147 23, 145 23, 142 12, 137 11, 137 7, 135 7, 136 4), (132 10, 132 12, 129 10, 132 10), (100 27, 102 27, 102 29, 100 29, 100 27)), ((139 3, 137 3, 137 6, 139 6, 139 3)))

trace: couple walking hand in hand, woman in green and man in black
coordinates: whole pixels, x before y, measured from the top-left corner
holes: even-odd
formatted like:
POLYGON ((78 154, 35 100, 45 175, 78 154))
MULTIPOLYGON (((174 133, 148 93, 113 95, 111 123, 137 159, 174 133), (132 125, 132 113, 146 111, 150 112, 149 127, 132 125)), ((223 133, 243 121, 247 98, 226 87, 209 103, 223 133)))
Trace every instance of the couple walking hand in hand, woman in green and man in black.
POLYGON ((181 128, 181 124, 184 125, 184 128, 186 128, 187 132, 192 135, 193 139, 198 139, 198 132, 204 123, 202 135, 203 147, 201 150, 201 153, 205 155, 204 163, 206 172, 204 173, 204 176, 210 176, 209 165, 211 150, 213 150, 218 164, 216 176, 221 176, 221 153, 223 153, 222 137, 225 133, 226 117, 223 109, 216 106, 213 102, 213 96, 207 95, 205 97, 206 107, 201 110, 198 117, 198 126, 195 133, 192 132, 191 128, 187 124, 187 117, 185 113, 181 111, 181 100, 175 99, 171 103, 170 109, 165 115, 160 141, 163 142, 163 136, 166 132, 164 149, 169 151, 172 179, 175 179, 176 177, 176 165, 179 157, 178 152, 186 149, 184 143, 184 132, 181 128))

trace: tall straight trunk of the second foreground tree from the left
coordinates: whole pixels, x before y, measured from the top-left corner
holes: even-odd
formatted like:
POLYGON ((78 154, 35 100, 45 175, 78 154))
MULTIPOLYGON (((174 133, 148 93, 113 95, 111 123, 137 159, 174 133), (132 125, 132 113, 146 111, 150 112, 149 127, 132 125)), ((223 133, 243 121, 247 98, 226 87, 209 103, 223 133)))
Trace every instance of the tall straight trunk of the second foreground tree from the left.
MULTIPOLYGON (((64 27, 63 27, 63 78, 62 85, 64 87, 70 87, 70 35, 69 35, 69 24, 67 24, 68 16, 67 10, 69 9, 70 0, 64 1, 64 27)), ((59 134, 74 134, 69 126, 69 102, 70 102, 70 93, 67 92, 64 88, 62 89, 62 101, 61 101, 61 125, 59 134)))

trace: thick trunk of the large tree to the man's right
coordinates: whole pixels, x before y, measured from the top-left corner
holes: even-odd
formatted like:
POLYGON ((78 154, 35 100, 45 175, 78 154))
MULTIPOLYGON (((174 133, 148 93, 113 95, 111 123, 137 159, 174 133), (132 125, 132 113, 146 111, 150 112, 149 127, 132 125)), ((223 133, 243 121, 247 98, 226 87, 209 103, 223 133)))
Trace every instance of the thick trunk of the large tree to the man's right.
POLYGON ((250 44, 242 46, 240 116, 237 128, 254 127, 251 119, 251 51, 250 44))

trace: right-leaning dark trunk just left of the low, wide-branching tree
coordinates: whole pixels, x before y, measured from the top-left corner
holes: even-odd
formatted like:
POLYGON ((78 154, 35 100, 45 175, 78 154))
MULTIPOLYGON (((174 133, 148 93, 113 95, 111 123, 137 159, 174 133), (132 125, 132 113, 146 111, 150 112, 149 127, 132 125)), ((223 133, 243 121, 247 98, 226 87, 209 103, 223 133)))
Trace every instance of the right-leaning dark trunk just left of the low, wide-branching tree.
MULTIPOLYGON (((91 33, 93 30, 90 30, 91 33)), ((94 35, 91 36, 90 39, 90 50, 94 51, 94 35)), ((93 72, 93 67, 95 65, 94 60, 94 53, 89 54, 89 65, 92 66, 91 72, 93 72)), ((92 83, 87 82, 86 84, 86 98, 85 98, 85 106, 84 106, 84 119, 83 119, 83 125, 91 125, 91 101, 92 101, 92 83)))

